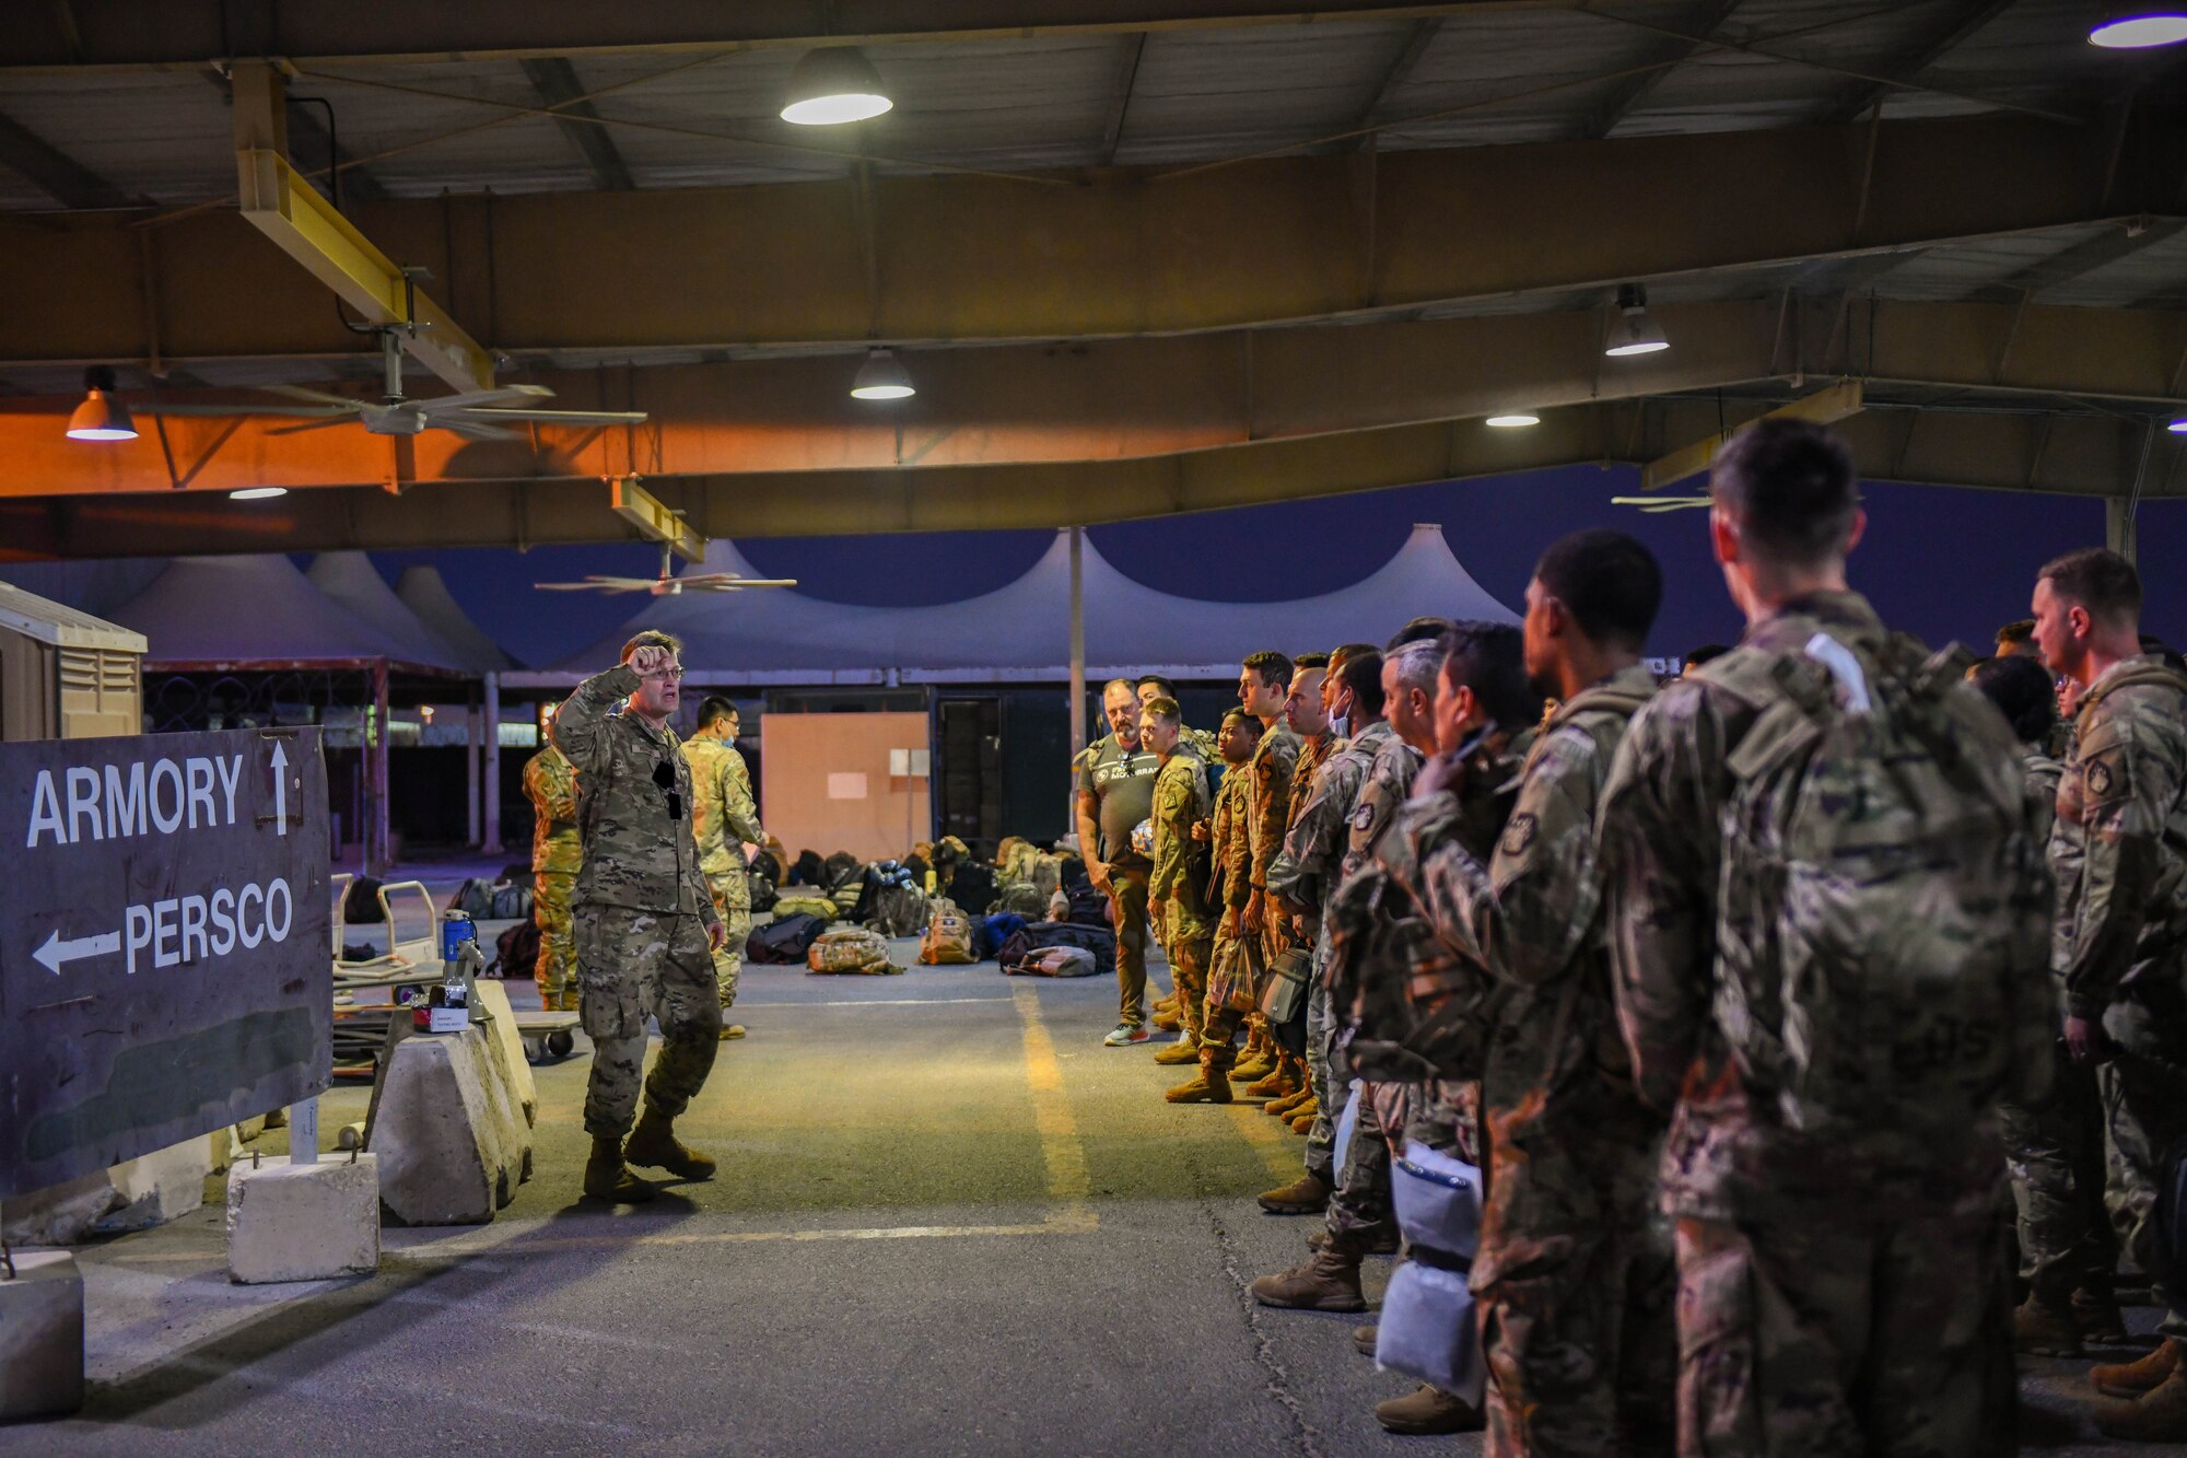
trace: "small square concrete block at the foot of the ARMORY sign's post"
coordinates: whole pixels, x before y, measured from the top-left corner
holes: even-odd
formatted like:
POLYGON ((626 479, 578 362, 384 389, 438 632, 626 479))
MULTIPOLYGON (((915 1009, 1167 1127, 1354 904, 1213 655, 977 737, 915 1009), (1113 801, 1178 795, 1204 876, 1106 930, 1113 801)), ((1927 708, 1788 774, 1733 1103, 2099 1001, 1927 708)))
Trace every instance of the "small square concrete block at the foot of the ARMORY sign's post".
POLYGON ((227 1176, 230 1281, 332 1281, 378 1268, 378 1158, 236 1165, 227 1176))

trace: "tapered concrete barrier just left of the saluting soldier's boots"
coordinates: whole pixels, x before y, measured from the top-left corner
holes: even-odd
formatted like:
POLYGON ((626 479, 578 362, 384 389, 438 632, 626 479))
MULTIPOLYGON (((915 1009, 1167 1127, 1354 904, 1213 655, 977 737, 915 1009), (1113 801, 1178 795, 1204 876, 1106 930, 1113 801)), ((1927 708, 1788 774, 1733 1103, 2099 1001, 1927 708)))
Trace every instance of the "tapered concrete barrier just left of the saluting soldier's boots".
POLYGON ((510 1119, 479 1029, 405 1038, 387 1060, 372 1125, 381 1202, 411 1226, 490 1222, 523 1178, 510 1119))

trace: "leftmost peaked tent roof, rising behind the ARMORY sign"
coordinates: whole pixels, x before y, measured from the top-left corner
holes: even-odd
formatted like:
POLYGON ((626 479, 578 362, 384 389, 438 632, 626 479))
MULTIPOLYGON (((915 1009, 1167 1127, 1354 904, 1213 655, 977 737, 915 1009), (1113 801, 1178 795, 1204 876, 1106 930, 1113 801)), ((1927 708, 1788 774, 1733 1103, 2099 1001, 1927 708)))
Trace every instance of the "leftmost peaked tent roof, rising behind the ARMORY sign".
POLYGON ((326 598, 286 556, 177 556, 109 617, 149 639, 144 666, 352 663, 411 657, 326 598))

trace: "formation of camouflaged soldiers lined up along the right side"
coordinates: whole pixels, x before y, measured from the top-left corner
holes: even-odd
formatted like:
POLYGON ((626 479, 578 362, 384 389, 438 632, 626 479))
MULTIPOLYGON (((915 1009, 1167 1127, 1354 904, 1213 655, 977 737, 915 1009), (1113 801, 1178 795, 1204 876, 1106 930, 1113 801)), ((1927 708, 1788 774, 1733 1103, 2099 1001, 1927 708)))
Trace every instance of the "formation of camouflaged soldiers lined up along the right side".
MULTIPOLYGON (((1931 655, 1848 589, 1866 517, 1835 433, 1747 427, 1710 495, 1747 633, 1669 685, 1640 661, 1656 560, 1581 532, 1522 628, 1247 659, 1218 792, 1174 694, 1137 707, 1144 915, 1183 1029, 1157 1057, 1198 1064, 1168 1099, 1273 1095, 1303 1064, 1306 1169, 1262 1206, 1323 1222, 1253 1283, 1271 1307, 1367 1309, 1406 1141, 1485 1171, 1481 1410, 1422 1388, 1378 1408, 1391 1430, 2008 1454, 2014 1346, 2121 1338, 2119 1252, 2163 1270, 2187 674, 2139 639, 2124 558, 2049 563, 2032 639, 2073 714, 2051 760, 2043 668, 1931 655)), ((1126 981, 1113 1044, 1144 1038, 1133 1014, 1126 981)), ((2161 1342, 2091 1373, 2108 1436, 2187 1440, 2187 1292, 2156 1296, 2161 1342)))

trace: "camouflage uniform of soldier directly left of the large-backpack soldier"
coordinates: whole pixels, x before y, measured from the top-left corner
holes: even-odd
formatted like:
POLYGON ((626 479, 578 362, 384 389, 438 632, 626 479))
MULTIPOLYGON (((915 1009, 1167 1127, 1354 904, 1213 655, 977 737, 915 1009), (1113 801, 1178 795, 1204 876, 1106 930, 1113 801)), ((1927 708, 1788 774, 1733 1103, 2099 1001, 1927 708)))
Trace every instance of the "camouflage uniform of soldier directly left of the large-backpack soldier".
POLYGON ((1671 1434, 1677 1276, 1656 1211, 1662 1121, 1632 1088, 1610 996, 1594 810, 1634 707, 1627 668, 1566 701, 1481 863, 1422 865, 1443 944, 1494 979, 1481 1073, 1487 1211, 1472 1289, 1494 1384, 1487 1454, 1621 1454, 1671 1434))

